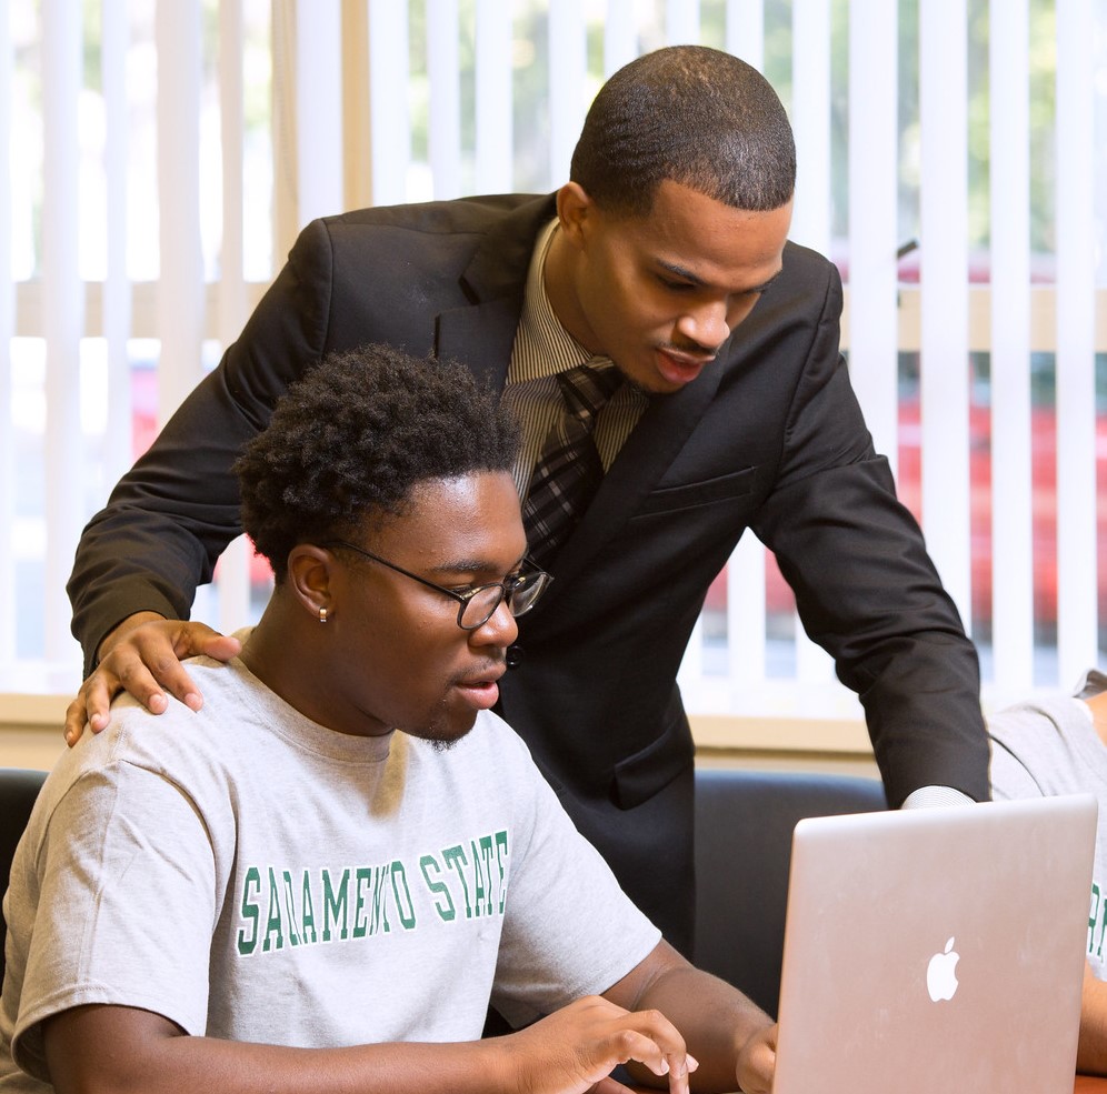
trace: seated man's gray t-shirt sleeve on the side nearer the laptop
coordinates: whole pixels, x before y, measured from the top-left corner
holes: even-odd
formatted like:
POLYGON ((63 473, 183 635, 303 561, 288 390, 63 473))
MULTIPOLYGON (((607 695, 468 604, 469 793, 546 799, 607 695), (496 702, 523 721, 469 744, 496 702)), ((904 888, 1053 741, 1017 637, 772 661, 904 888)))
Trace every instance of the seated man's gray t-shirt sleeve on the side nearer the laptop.
MULTIPOLYGON (((521 747, 521 743, 520 743, 521 747)), ((661 933, 622 892, 577 831, 538 770, 528 787, 529 832, 511 853, 492 1002, 509 1021, 548 1014, 607 991, 658 944, 661 933)))

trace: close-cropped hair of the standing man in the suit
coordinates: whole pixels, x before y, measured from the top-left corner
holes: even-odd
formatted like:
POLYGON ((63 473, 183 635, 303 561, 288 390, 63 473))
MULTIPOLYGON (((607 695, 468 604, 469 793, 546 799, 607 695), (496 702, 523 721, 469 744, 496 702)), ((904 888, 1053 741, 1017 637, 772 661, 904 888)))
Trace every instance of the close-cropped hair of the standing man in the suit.
POLYGON ((757 69, 706 46, 672 46, 600 88, 569 178, 617 215, 648 215, 667 179, 734 209, 768 211, 791 199, 796 143, 757 69))

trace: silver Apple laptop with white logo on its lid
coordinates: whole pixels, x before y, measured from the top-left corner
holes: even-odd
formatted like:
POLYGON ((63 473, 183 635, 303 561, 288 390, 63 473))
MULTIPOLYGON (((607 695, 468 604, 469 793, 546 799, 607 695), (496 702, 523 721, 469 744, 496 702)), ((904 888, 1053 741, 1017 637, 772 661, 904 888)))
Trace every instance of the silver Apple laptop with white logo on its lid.
POLYGON ((774 1094, 1071 1094, 1090 795, 800 821, 774 1094))

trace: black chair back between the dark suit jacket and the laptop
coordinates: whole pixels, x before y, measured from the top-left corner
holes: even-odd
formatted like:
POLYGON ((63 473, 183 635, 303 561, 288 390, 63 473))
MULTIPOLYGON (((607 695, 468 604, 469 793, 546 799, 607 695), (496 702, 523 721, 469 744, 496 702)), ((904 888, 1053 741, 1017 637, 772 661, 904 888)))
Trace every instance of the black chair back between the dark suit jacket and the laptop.
POLYGON ((696 964, 776 1015, 796 822, 887 805, 876 779, 698 767, 696 964))

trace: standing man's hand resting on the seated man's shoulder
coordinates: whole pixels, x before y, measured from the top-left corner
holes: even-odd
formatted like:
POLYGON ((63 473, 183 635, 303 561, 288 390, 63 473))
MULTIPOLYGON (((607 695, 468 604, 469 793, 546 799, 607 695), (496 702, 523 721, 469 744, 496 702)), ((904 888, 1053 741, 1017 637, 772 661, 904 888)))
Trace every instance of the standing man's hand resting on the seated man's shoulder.
POLYGON ((206 623, 169 620, 156 612, 129 615, 100 643, 100 662, 66 711, 66 743, 72 747, 84 726, 93 733, 108 727, 108 709, 124 689, 151 714, 168 705, 164 692, 199 710, 203 700, 181 666, 203 654, 229 661, 241 649, 238 639, 206 623))

